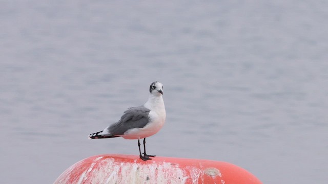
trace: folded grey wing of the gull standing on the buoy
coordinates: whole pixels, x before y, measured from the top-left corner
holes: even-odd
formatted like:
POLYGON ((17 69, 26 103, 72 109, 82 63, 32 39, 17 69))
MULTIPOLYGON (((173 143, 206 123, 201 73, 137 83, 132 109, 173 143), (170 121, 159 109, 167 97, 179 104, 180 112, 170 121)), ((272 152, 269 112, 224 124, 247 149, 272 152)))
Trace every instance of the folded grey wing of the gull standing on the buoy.
POLYGON ((143 128, 149 122, 149 112, 144 106, 128 108, 118 122, 108 127, 108 132, 112 135, 122 135, 129 129, 143 128))

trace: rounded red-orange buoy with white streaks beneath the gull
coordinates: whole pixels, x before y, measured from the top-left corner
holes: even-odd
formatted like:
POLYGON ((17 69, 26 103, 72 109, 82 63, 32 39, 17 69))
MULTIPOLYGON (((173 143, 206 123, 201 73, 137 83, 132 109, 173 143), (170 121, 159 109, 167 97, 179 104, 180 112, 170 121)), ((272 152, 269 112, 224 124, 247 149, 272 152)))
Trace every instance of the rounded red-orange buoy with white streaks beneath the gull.
POLYGON ((214 160, 104 154, 85 158, 64 171, 57 183, 262 183, 238 166, 214 160))

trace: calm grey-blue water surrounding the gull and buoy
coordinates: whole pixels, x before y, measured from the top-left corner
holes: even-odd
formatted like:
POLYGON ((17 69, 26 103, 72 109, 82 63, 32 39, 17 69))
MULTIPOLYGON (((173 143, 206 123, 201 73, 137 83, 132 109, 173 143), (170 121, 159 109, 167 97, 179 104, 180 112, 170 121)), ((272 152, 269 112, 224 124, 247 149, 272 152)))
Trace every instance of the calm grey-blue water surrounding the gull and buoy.
POLYGON ((1 1, 0 178, 52 183, 164 84, 158 156, 222 160, 263 183, 328 180, 326 1, 1 1))

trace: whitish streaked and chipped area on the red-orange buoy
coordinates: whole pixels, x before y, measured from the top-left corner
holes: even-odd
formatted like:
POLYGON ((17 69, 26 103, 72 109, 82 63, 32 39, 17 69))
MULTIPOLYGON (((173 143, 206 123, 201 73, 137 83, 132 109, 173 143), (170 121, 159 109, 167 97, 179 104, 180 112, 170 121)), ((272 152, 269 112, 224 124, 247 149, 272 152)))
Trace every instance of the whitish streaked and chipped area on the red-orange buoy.
MULTIPOLYGON (((100 158, 99 158, 100 159, 100 158)), ((98 170, 94 167, 95 164, 99 164, 99 159, 95 159, 90 168, 86 171, 83 179, 79 181, 86 181, 88 176, 92 174, 94 169, 97 169, 97 174, 92 175, 88 180, 91 182, 100 183, 172 183, 182 184, 186 183, 189 178, 178 165, 172 165, 171 163, 150 163, 150 164, 138 164, 138 163, 117 163, 113 158, 106 158, 100 160, 103 169, 98 170), (104 180, 105 178, 105 180, 104 180)), ((192 171, 193 183, 197 183, 197 179, 201 172, 199 169, 192 171)), ((82 183, 82 182, 78 182, 82 183)))

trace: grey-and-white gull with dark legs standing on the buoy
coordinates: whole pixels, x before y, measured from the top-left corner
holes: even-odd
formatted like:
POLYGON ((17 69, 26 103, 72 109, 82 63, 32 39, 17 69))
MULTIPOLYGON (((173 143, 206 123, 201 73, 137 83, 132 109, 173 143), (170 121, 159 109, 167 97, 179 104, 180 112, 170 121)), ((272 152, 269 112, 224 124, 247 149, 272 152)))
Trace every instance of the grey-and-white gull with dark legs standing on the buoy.
POLYGON ((138 107, 124 111, 120 120, 109 125, 103 131, 91 133, 89 139, 123 137, 138 140, 139 156, 146 161, 155 155, 146 153, 146 137, 157 133, 165 123, 166 111, 163 101, 163 84, 155 81, 149 87, 148 101, 138 107), (140 139, 144 139, 144 155, 140 150, 140 139))

